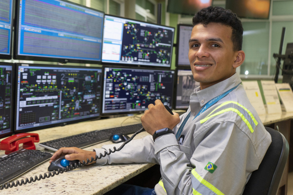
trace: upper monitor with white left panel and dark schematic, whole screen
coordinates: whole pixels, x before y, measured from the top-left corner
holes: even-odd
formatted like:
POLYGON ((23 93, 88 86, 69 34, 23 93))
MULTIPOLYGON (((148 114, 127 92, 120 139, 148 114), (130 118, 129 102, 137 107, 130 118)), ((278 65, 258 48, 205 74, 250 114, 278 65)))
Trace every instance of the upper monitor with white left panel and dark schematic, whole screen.
POLYGON ((175 28, 105 15, 102 62, 171 67, 175 28))

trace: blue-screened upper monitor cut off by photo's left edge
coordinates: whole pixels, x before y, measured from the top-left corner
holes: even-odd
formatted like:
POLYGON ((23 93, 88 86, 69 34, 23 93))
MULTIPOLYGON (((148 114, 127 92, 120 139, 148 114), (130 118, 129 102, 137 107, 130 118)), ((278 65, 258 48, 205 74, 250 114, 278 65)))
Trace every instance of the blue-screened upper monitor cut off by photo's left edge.
POLYGON ((0 59, 12 58, 14 0, 0 2, 0 59))

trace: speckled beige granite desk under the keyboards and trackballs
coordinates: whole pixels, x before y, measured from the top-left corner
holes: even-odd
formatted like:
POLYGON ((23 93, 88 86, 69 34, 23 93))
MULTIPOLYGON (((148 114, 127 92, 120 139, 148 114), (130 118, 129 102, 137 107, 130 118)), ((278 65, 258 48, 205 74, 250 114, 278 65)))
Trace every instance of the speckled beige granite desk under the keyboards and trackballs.
MULTIPOLYGON (((279 127, 279 130, 285 135, 289 141, 290 137, 290 121, 293 119, 293 113, 282 113, 276 115, 264 115, 260 116, 261 121, 265 126, 274 126, 274 129, 279 127)), ((120 126, 120 124, 128 117, 119 117, 112 119, 102 119, 96 121, 81 122, 78 124, 71 124, 63 127, 54 127, 39 131, 34 131, 38 133, 40 137, 40 142, 49 141, 52 139, 58 139, 65 136, 80 134, 82 132, 94 131, 96 129, 107 129, 110 127, 120 126)), ((130 117, 123 125, 130 125, 139 123, 133 117, 130 117)), ((134 139, 140 139, 148 135, 146 132, 142 132, 135 136, 134 139)), ((94 146, 84 148, 85 150, 92 150, 93 148, 100 148, 104 144, 111 144, 112 142, 106 141, 94 146)), ((44 149, 38 144, 36 144, 36 149, 42 151, 49 151, 44 149)), ((0 155, 4 154, 4 151, 0 151, 0 155)), ((44 180, 36 181, 31 184, 26 184, 23 186, 13 187, 10 189, 4 189, 1 194, 104 194, 110 189, 128 181, 134 176, 142 173, 143 171, 149 169, 154 164, 117 164, 117 165, 107 165, 107 166, 97 166, 89 165, 84 166, 67 173, 59 174, 54 177, 46 178, 44 180)), ((49 161, 43 163, 31 171, 21 175, 15 180, 25 179, 27 177, 43 174, 47 172, 49 166, 49 161)), ((287 169, 284 171, 284 179, 280 185, 279 194, 287 194, 287 169)), ((14 180, 14 181, 15 181, 14 180)))

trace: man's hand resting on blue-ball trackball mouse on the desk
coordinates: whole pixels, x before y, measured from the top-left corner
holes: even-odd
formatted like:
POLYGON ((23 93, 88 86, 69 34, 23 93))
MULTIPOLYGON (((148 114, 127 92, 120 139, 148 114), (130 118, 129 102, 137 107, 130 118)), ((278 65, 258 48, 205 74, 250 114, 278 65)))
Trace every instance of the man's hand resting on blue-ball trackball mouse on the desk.
MULTIPOLYGON (((64 156, 64 155, 65 155, 65 159, 69 160, 69 161, 79 160, 80 162, 82 162, 84 160, 85 162, 87 162, 87 159, 91 160, 91 157, 93 157, 95 159, 96 152, 95 151, 87 151, 87 150, 83 150, 83 149, 76 148, 76 147, 60 148, 59 150, 57 150, 53 154, 49 163, 58 159, 60 156, 64 156)), ((95 162, 96 161, 93 161, 89 164, 94 164, 95 162)))

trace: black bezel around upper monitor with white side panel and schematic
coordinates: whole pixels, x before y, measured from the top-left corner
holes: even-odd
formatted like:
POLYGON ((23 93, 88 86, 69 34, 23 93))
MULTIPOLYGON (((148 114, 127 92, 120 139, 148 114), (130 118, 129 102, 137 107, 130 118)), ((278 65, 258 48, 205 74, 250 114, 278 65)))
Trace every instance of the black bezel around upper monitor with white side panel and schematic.
MULTIPOLYGON (((123 66, 123 67, 130 66, 130 67, 139 67, 139 68, 140 67, 142 67, 142 68, 143 67, 149 67, 149 68, 160 68, 160 69, 170 69, 171 68, 172 58, 173 58, 172 56, 173 56, 174 38, 175 38, 175 31, 176 31, 175 27, 166 26, 166 25, 162 25, 162 24, 155 24, 155 23, 141 21, 141 20, 137 20, 137 19, 126 18, 126 17, 122 17, 122 16, 115 16, 115 15, 111 15, 111 14, 105 14, 104 15, 104 29, 105 29, 105 19, 106 19, 107 16, 111 16, 111 17, 115 17, 115 18, 119 18, 119 19, 130 20, 130 21, 137 21, 137 22, 145 23, 145 24, 157 25, 157 26, 161 26, 161 27, 168 27, 168 28, 173 29, 173 37, 172 37, 172 44, 171 44, 171 51, 170 51, 171 57, 170 57, 169 66, 146 65, 146 64, 129 64, 129 63, 120 63, 120 62, 119 63, 117 63, 117 62, 105 62, 105 61, 103 61, 103 52, 102 52, 101 63, 102 63, 103 66, 104 65, 106 65, 106 66, 123 66)), ((102 43, 104 43, 104 36, 103 36, 102 43)), ((103 50, 103 44, 102 44, 102 50, 103 50)))

